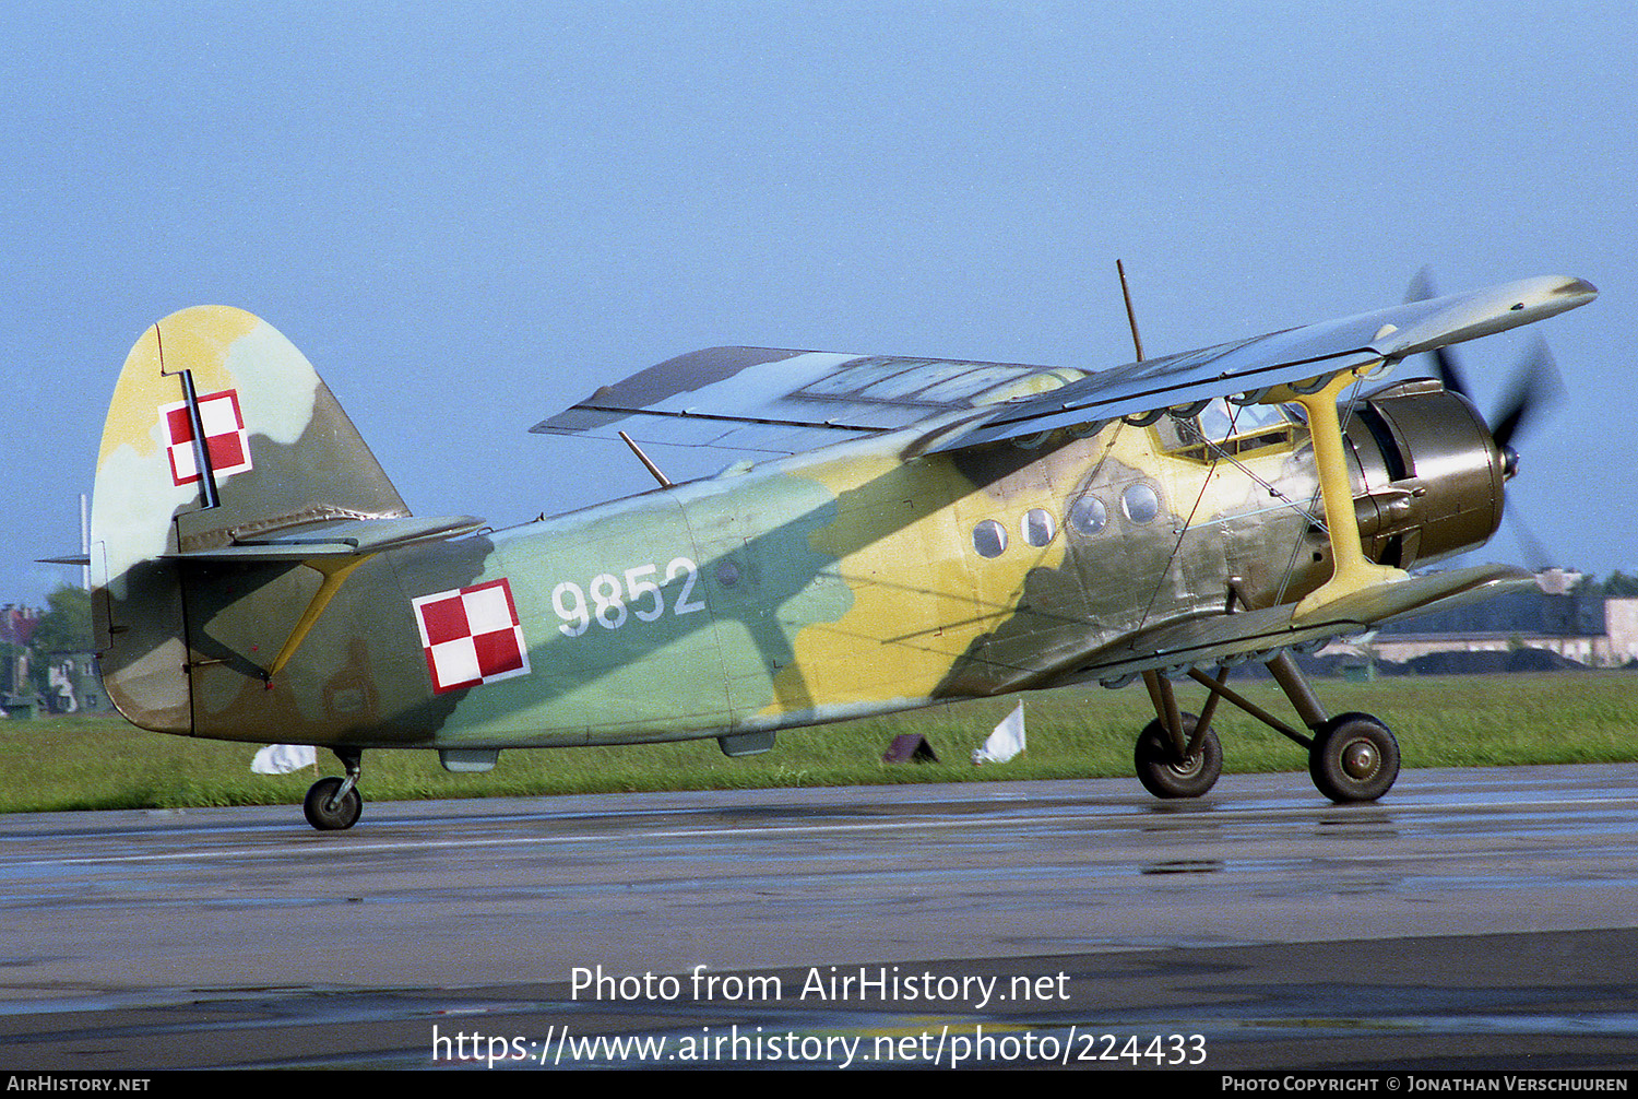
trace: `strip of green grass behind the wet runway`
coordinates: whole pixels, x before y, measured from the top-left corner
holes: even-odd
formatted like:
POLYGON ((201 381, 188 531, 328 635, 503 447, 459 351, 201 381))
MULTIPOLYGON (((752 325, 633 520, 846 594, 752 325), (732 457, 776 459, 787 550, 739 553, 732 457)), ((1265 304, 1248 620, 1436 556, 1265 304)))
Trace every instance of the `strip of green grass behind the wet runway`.
MULTIPOLYGON (((1317 681, 1330 712, 1364 711, 1399 737, 1405 767, 1492 767, 1638 760, 1638 675, 1554 672, 1495 676, 1396 676, 1317 681)), ((1271 683, 1240 686, 1291 719, 1271 683)), ((1204 691, 1179 688, 1186 709, 1204 691)), ((971 753, 1016 704, 1014 696, 955 703, 865 721, 781 732, 773 752, 731 760, 716 740, 618 748, 503 752, 486 775, 449 775, 434 752, 365 752, 373 801, 637 789, 835 786, 855 783, 1099 778, 1132 773, 1132 742, 1153 717, 1142 686, 1066 688, 1025 694, 1029 748, 1009 763, 971 765, 971 753), (924 734, 939 763, 885 765, 901 732, 924 734)), ((1304 770, 1302 748, 1227 703, 1214 719, 1228 771, 1304 770)), ((256 745, 144 732, 118 717, 0 721, 0 812, 300 803, 313 771, 252 775, 256 745)), ((339 773, 328 753, 319 768, 339 773)))

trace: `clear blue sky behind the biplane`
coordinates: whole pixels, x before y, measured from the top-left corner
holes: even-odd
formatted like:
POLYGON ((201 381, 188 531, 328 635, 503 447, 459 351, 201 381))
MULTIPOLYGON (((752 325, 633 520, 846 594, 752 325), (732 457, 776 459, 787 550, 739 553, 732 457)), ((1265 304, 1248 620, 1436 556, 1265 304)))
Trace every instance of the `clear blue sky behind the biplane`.
MULTIPOLYGON (((1638 29, 1617 3, 87 5, 8 20, 0 601, 77 570, 102 418, 203 301, 301 347, 421 514, 649 486, 527 427, 683 351, 1107 367, 1540 274, 1515 506, 1638 568, 1638 29), (341 8, 341 10, 337 10, 341 8)), ((1525 346, 1469 344, 1489 409, 1525 346)), ((660 449, 673 475, 732 455, 660 449)), ((1523 562, 1504 532, 1482 554, 1523 562)))

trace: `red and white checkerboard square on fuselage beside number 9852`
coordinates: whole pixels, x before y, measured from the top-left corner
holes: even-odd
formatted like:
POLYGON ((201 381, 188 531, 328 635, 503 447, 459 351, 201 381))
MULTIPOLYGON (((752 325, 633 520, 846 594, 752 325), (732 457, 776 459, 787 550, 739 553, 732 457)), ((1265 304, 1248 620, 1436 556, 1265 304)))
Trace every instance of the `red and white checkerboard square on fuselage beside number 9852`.
POLYGON ((439 694, 529 673, 529 650, 506 578, 411 601, 439 694))

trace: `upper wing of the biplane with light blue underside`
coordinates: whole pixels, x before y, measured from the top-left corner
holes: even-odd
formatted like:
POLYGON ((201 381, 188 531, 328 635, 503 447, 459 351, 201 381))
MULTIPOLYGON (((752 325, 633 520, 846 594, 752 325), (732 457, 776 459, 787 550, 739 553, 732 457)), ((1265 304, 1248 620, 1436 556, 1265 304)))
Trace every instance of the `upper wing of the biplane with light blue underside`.
POLYGON ((930 449, 1101 423, 1302 383, 1528 324, 1584 305, 1543 277, 1088 373, 1019 364, 716 347, 603 387, 532 431, 796 454, 925 423, 930 449))

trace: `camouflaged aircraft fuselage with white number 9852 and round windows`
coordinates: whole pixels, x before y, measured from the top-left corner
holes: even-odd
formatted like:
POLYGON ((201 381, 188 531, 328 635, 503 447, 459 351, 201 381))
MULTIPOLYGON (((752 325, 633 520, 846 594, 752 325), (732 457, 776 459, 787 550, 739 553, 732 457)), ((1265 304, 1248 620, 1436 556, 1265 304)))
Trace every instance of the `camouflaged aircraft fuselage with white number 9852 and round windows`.
MULTIPOLYGON (((1351 421, 1364 501, 1405 472, 1376 436, 1351 421)), ((270 683, 259 670, 318 573, 188 567, 190 727, 172 730, 454 748, 742 735, 1043 686, 1137 629, 1220 613, 1230 586, 1271 606, 1330 575, 1297 423, 1235 460, 1120 423, 1035 449, 904 460, 906 442, 380 554, 270 683)))

